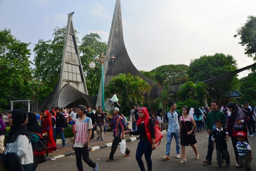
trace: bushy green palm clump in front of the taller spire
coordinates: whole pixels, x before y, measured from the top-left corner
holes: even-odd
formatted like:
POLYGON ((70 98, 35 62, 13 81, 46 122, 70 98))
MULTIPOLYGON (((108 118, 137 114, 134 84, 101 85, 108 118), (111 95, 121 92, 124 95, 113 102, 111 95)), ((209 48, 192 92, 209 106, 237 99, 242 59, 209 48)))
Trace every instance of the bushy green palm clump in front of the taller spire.
POLYGON ((138 75, 134 76, 130 73, 124 73, 113 77, 105 89, 105 97, 112 97, 116 94, 121 105, 121 111, 129 113, 132 105, 143 105, 145 101, 144 96, 150 92, 150 85, 138 75))

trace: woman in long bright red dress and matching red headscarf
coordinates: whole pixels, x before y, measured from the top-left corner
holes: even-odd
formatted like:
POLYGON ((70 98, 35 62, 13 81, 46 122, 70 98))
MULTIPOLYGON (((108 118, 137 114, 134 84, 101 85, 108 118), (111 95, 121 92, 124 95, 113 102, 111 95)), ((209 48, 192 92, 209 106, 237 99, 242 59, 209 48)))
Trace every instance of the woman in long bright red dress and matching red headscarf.
POLYGON ((56 142, 53 138, 53 133, 52 133, 52 116, 51 113, 48 110, 44 111, 44 115, 46 114, 46 117, 44 118, 43 121, 43 126, 42 126, 42 133, 47 133, 47 127, 49 126, 49 150, 48 152, 57 152, 57 147, 56 147, 56 142))

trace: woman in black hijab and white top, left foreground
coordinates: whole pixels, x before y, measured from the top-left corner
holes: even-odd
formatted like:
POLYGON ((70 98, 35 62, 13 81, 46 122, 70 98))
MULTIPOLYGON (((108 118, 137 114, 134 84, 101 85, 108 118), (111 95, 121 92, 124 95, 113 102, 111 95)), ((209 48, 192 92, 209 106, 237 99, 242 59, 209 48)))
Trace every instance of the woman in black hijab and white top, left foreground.
POLYGON ((17 153, 23 169, 30 171, 33 167, 33 151, 30 142, 30 131, 26 121, 27 115, 21 109, 14 109, 10 113, 9 125, 10 132, 7 140, 5 154, 17 153))

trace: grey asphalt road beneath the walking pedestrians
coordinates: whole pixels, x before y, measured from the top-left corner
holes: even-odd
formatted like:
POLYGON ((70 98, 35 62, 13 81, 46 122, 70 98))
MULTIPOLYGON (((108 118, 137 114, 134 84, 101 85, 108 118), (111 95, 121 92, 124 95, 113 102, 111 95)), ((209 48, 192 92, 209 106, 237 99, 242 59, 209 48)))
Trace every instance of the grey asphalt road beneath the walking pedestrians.
MULTIPOLYGON (((165 155, 165 145, 166 145, 166 135, 164 134, 164 137, 162 139, 162 142, 160 146, 152 152, 152 162, 153 162, 153 171, 164 171, 164 170, 182 170, 182 171, 190 171, 190 170, 217 170, 215 167, 217 165, 217 161, 213 160, 212 165, 205 165, 202 161, 205 160, 205 156, 207 153, 207 146, 208 146, 208 139, 207 139, 207 132, 203 130, 203 133, 196 133, 196 147, 198 149, 198 152, 200 154, 199 160, 195 160, 195 153, 192 149, 192 147, 188 146, 186 147, 186 163, 179 163, 180 159, 176 159, 176 152, 175 152, 175 141, 172 140, 171 143, 171 153, 170 157, 171 160, 163 161, 161 157, 165 155)), ((256 137, 249 137, 249 142, 252 148, 253 157, 256 160, 256 148, 254 147, 256 142, 256 137)), ((111 162, 105 162, 105 160, 109 157, 110 153, 110 147, 98 149, 96 151, 89 152, 90 158, 98 163, 99 171, 113 171, 113 170, 123 170, 123 171, 138 171, 139 167, 137 164, 137 161, 135 159, 135 153, 137 149, 138 141, 133 142, 127 142, 126 146, 132 154, 129 157, 123 157, 123 155, 120 153, 120 148, 118 147, 115 155, 114 155, 114 161, 111 162)), ((229 168, 225 167, 225 164, 222 165, 222 168, 220 170, 236 170, 236 171, 242 171, 243 168, 237 169, 235 167, 236 160, 234 157, 234 151, 231 144, 231 141, 228 141, 228 150, 230 154, 230 160, 231 160, 231 166, 229 168)), ((213 151, 213 159, 216 157, 216 151, 213 151)), ((144 157, 142 157, 145 168, 147 170, 147 165, 144 157)), ((252 170, 256 168, 255 161, 252 161, 252 170)), ((84 170, 92 170, 85 162, 83 162, 84 170)), ((60 171, 60 170, 67 170, 67 171, 73 171, 77 170, 76 168, 76 157, 74 155, 72 156, 66 156, 62 158, 58 158, 55 161, 46 161, 45 163, 39 164, 38 171, 60 171)))

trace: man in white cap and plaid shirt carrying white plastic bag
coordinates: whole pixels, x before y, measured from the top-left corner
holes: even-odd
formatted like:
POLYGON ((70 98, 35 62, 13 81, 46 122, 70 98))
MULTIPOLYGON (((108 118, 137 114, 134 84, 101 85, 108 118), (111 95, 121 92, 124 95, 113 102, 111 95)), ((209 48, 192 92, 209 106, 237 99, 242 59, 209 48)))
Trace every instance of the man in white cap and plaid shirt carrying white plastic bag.
MULTIPOLYGON (((114 136, 114 140, 112 142, 112 146, 111 146, 111 152, 109 154, 109 158, 106 161, 112 161, 114 160, 114 154, 117 150, 117 146, 119 144, 119 142, 121 142, 121 133, 122 133, 122 139, 124 140, 124 122, 121 116, 118 115, 119 113, 119 108, 115 107, 114 108, 114 117, 112 118, 112 122, 113 122, 113 136, 114 136)), ((125 151, 125 157, 128 156, 129 154, 131 154, 130 150, 126 148, 125 151)))

